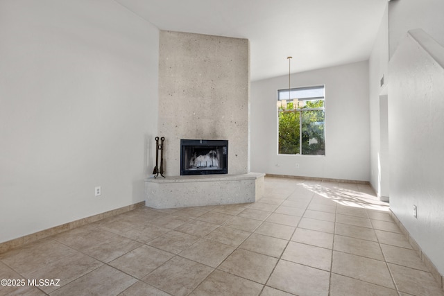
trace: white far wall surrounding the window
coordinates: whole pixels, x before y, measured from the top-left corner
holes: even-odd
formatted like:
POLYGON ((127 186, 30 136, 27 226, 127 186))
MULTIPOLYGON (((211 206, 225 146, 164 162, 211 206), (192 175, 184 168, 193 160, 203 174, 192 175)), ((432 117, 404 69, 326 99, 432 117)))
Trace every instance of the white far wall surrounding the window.
POLYGON ((258 80, 251 84, 251 171, 368 181, 368 62, 292 74, 291 87, 311 85, 325 85, 325 157, 278 155, 276 96, 288 76, 258 80))

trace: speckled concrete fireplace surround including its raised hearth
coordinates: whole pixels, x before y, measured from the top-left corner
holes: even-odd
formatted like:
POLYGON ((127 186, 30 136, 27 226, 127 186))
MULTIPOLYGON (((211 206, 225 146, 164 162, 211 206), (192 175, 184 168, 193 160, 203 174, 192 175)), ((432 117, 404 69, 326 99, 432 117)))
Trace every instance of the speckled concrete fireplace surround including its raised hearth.
POLYGON ((159 137, 164 175, 145 182, 157 209, 255 202, 250 173, 250 46, 246 39, 160 31, 159 137), (180 175, 180 139, 228 140, 228 175, 180 175))

